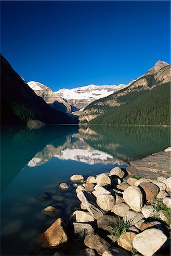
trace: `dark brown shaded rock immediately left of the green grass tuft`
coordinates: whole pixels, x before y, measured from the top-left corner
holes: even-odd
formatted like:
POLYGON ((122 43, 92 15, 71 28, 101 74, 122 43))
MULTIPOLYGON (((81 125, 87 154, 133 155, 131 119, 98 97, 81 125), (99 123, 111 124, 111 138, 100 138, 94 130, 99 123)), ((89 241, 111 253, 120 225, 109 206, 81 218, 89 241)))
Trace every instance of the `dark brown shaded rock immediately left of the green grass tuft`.
POLYGON ((119 218, 111 215, 102 216, 97 220, 98 228, 112 232, 118 226, 119 218))

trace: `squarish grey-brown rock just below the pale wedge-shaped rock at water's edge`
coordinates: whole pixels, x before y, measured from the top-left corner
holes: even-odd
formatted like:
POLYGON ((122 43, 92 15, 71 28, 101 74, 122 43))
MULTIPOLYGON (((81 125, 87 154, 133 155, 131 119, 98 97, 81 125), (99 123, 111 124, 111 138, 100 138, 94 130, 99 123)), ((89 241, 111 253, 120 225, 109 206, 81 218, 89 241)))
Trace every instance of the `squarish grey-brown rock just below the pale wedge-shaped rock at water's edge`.
POLYGON ((94 233, 94 229, 90 224, 73 222, 74 234, 80 238, 84 238, 87 234, 94 233))

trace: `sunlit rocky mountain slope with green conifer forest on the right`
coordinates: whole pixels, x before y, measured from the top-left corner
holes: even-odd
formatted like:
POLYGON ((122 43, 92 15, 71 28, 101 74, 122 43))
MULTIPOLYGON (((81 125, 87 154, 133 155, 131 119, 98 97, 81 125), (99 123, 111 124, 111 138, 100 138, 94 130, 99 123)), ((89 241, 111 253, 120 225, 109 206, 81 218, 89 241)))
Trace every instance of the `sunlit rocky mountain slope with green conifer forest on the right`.
POLYGON ((170 65, 157 61, 155 67, 127 88, 92 102, 80 122, 124 125, 169 125, 170 65))

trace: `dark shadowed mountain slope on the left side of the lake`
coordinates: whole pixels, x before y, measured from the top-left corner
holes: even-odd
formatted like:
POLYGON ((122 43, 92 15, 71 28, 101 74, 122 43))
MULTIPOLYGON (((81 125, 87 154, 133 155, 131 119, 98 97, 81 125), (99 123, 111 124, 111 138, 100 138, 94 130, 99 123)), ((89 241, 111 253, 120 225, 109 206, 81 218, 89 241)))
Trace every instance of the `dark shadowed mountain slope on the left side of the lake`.
POLYGON ((1 125, 24 124, 30 120, 43 123, 77 122, 76 118, 48 106, 1 56, 1 125))

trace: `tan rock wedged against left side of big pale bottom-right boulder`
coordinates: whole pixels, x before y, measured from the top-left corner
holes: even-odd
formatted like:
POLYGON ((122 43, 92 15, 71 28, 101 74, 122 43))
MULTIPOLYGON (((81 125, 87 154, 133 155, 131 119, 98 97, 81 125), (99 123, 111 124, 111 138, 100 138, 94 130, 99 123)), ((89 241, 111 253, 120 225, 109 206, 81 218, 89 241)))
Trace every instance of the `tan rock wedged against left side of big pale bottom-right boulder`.
POLYGON ((118 239, 118 245, 127 251, 132 250, 132 241, 134 240, 136 234, 133 232, 125 232, 120 235, 118 239))

